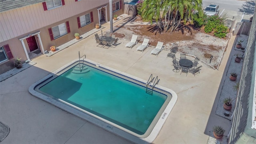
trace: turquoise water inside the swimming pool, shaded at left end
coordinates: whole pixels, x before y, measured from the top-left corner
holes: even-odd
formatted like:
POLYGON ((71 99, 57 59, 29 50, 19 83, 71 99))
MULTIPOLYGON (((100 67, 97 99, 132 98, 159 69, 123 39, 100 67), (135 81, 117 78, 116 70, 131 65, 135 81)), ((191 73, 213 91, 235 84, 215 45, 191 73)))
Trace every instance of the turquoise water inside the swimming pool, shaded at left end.
POLYGON ((74 67, 39 90, 122 126, 144 134, 166 101, 166 94, 147 94, 144 85, 88 66, 86 73, 73 73, 74 67))

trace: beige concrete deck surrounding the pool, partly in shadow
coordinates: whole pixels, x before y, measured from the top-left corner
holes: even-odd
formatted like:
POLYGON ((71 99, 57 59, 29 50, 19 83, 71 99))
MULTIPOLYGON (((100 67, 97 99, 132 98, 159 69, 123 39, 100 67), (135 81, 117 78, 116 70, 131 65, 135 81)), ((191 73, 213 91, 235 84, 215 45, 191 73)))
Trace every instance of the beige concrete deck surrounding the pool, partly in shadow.
MULTIPOLYGON (((121 23, 122 20, 114 23, 121 23)), ((103 24, 103 32, 110 28, 103 24)), ((100 34, 100 32, 97 32, 100 34)), ((215 114, 219 99, 222 76, 226 76, 226 66, 230 62, 230 52, 236 36, 231 36, 219 70, 202 65, 200 74, 194 76, 172 71, 172 59, 166 58, 168 51, 163 50, 156 57, 150 55, 153 47, 137 52, 125 48, 128 40, 118 40, 115 48, 97 47, 94 35, 65 48, 48 57, 41 55, 35 65, 0 82, 0 121, 10 128, 10 133, 1 142, 9 143, 131 143, 86 120, 78 118, 51 104, 44 102, 28 92, 28 88, 49 73, 68 62, 86 55, 86 58, 110 68, 148 80, 150 74, 160 78, 159 85, 174 90, 178 100, 168 116, 156 144, 207 143, 214 125, 223 126, 228 135, 230 121, 215 114)), ((177 58, 179 54, 176 55, 177 58)), ((189 57, 193 60, 194 58, 189 57)), ((56 86, 58 88, 58 86, 56 86)))

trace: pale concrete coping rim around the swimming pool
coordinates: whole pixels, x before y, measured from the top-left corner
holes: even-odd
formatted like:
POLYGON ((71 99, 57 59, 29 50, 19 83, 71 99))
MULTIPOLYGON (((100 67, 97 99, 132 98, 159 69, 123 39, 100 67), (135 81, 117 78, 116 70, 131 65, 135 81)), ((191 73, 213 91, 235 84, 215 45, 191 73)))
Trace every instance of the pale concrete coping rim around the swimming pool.
MULTIPOLYGON (((172 95, 172 98, 170 100, 170 102, 167 104, 166 108, 164 109, 164 111, 162 112, 162 114, 160 115, 160 118, 157 120, 156 122, 156 125, 154 126, 154 128, 152 129, 151 133, 149 134, 149 136, 147 136, 146 138, 138 138, 132 134, 129 134, 128 132, 125 132, 119 128, 116 128, 115 126, 111 126, 110 124, 100 120, 100 119, 97 119, 97 118, 94 118, 92 116, 90 116, 89 114, 86 114, 80 110, 77 110, 67 104, 64 104, 60 101, 57 101, 53 98, 50 98, 48 96, 45 96, 44 94, 41 94, 37 91, 34 90, 34 88, 36 86, 38 86, 39 84, 41 84, 42 82, 48 80, 49 78, 53 77, 53 76, 56 76, 59 72, 61 72, 62 70, 64 70, 65 68, 69 67, 70 65, 72 65, 73 63, 79 61, 79 59, 76 59, 76 60, 73 60, 72 62, 62 66, 61 68, 59 68, 58 70, 48 74, 47 76, 45 76, 44 78, 42 78, 41 80, 35 82, 34 84, 32 84, 28 91, 30 92, 30 94, 32 94, 33 96, 41 99, 41 100, 44 100, 66 112, 69 112, 71 114, 74 114, 75 116, 78 116, 94 125, 97 125, 99 126, 100 128, 103 128, 104 130, 107 130, 111 133, 114 133, 118 136, 121 136, 123 138, 126 138, 127 140, 130 140, 132 142, 136 142, 136 143, 152 143, 156 137, 158 136, 158 133, 160 132, 160 130, 162 129, 162 126, 164 125, 164 122, 166 121, 167 117, 169 116, 172 108, 174 107, 177 99, 178 99, 178 96, 177 94, 171 90, 171 89, 168 89, 168 88, 165 88, 163 86, 159 86, 159 85, 156 85, 155 88, 157 89, 161 89, 161 90, 164 90, 166 92, 170 92, 171 95, 172 95)), ((102 68, 106 68, 108 70, 111 70, 111 71, 114 71, 114 72, 117 72, 121 75, 125 75, 125 76, 128 76, 132 79, 136 79, 136 80, 139 80, 140 82, 144 82, 146 83, 147 81, 146 80, 142 80, 138 77, 135 77, 135 76, 132 76, 130 74, 127 74, 125 72, 121 72, 121 71, 118 71, 116 69, 113 69, 113 68, 110 68, 110 67, 107 67, 107 66, 104 66, 102 64, 98 64, 97 62, 94 62, 94 61, 91 61, 91 60, 88 60, 86 59, 85 61, 89 62, 89 63, 92 63, 92 64, 96 64, 96 66, 100 66, 102 68)))

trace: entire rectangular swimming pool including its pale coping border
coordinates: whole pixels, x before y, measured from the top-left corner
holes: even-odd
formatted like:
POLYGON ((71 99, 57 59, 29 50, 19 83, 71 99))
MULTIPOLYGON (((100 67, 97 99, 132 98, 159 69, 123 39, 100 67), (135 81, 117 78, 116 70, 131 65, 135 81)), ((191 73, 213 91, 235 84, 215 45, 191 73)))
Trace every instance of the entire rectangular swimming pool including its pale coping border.
POLYGON ((177 100, 175 92, 156 85, 147 94, 145 80, 83 63, 82 73, 73 73, 79 64, 74 60, 30 86, 30 93, 124 138, 152 142, 177 100))

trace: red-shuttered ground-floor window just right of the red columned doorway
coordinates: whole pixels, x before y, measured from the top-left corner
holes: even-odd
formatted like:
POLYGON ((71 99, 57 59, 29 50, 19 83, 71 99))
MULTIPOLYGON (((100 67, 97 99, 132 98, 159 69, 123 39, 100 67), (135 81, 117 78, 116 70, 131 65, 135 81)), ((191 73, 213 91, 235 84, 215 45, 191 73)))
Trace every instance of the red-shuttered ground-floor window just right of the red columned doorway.
POLYGON ((69 22, 67 21, 65 23, 59 24, 58 26, 54 26, 48 30, 51 40, 54 40, 60 36, 70 33, 69 22))

